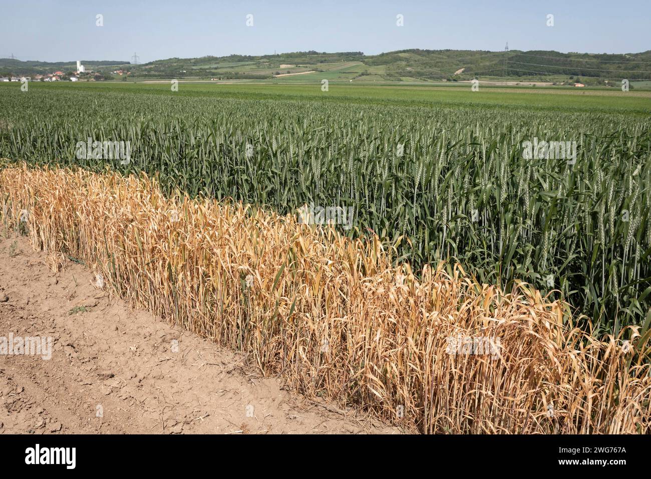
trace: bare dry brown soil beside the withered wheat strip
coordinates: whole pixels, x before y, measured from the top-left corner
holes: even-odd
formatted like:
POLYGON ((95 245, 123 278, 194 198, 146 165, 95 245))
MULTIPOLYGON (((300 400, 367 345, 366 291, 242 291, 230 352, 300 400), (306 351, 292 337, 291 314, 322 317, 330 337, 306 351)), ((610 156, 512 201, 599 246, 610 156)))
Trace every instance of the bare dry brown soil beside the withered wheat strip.
POLYGON ((0 341, 52 341, 49 360, 47 347, 0 354, 0 433, 400 432, 296 397, 92 280, 72 261, 53 273, 24 237, 0 237, 0 341))

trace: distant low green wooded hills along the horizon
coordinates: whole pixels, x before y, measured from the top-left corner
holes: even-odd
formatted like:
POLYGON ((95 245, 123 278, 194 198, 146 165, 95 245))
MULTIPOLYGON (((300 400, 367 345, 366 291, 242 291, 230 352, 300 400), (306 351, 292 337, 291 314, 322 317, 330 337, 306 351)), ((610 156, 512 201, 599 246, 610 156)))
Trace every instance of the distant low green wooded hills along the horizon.
MULTIPOLYGON (((651 80, 651 50, 642 53, 560 53, 558 51, 399 50, 365 55, 361 51, 297 51, 276 55, 169 58, 142 65, 124 61, 83 61, 109 75, 126 67, 130 78, 271 79, 283 81, 461 81, 514 78, 581 81, 651 80), (462 72, 459 72, 462 70, 462 72)), ((0 74, 35 74, 75 69, 74 62, 21 62, 0 59, 0 74)))

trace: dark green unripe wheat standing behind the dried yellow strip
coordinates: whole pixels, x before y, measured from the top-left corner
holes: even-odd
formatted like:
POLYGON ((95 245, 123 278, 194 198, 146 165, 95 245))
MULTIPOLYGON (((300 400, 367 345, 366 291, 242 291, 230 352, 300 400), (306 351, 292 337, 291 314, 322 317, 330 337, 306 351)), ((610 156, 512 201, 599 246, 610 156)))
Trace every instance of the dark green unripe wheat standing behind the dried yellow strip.
POLYGON ((632 97, 604 96, 602 109, 586 111, 592 96, 549 92, 498 95, 529 98, 516 108, 468 104, 472 95, 450 105, 449 89, 445 102, 425 103, 411 89, 379 89, 387 98, 370 102, 355 90, 337 98, 318 88, 297 101, 295 87, 263 89, 258 99, 250 87, 232 98, 200 85, 178 95, 165 85, 35 85, 28 95, 0 87, 0 156, 145 172, 165 194, 281 214, 305 203, 352 207, 353 227, 340 233, 372 229, 416 269, 443 260, 504 289, 531 283, 586 315, 596 337, 644 323, 651 122, 639 111, 647 98, 625 109, 632 97), (580 109, 562 105, 572 99, 580 109), (130 142, 130 162, 79 158, 77 144, 89 138, 130 142), (536 138, 575 141, 574 164, 525 158, 523 142, 536 138))

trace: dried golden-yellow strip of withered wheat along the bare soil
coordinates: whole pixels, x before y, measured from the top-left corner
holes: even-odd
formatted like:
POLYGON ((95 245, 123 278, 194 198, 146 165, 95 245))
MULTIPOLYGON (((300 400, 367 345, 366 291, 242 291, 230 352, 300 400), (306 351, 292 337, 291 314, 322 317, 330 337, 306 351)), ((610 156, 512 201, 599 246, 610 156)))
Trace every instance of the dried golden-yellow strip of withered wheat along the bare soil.
POLYGON ((145 174, 5 167, 5 227, 310 397, 422 433, 649 433, 648 322, 596 338, 572 308, 145 174), (477 347, 484 341, 486 348, 477 347), (488 350, 490 345, 490 351, 488 350))

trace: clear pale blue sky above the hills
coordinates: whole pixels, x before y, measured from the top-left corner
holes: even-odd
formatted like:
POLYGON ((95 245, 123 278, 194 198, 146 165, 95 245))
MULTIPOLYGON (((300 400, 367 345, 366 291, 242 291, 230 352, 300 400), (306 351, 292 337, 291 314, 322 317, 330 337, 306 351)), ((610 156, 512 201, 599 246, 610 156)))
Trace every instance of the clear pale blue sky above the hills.
POLYGON ((0 56, 126 60, 284 51, 651 49, 651 0, 0 0, 0 56), (104 26, 96 26, 96 14, 104 26), (246 16, 253 14, 253 27, 246 16), (396 15, 404 26, 396 26, 396 15), (554 25, 547 27, 547 14, 554 25))

